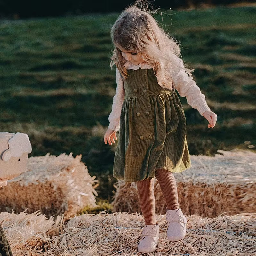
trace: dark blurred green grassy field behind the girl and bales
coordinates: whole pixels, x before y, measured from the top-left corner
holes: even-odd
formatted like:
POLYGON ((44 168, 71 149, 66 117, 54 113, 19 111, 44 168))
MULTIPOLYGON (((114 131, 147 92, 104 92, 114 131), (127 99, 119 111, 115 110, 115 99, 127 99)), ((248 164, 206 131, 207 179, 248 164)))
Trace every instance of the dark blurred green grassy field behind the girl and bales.
MULTIPOLYGON (((217 114, 215 127, 180 97, 191 155, 255 151, 254 1, 150 1, 217 114)), ((111 201, 116 144, 103 136, 116 91, 110 28, 132 1, 0 1, 0 128, 24 132, 30 156, 82 154, 111 201)), ((178 93, 178 92, 177 92, 178 93)))

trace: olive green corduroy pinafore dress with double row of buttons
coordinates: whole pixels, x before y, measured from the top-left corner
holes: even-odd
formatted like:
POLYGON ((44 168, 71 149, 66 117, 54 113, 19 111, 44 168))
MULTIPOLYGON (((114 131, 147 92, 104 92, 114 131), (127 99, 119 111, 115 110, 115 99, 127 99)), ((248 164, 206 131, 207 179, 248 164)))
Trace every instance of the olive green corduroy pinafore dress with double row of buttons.
POLYGON ((186 118, 175 88, 161 87, 153 68, 127 72, 113 177, 135 182, 157 169, 188 169, 186 118))

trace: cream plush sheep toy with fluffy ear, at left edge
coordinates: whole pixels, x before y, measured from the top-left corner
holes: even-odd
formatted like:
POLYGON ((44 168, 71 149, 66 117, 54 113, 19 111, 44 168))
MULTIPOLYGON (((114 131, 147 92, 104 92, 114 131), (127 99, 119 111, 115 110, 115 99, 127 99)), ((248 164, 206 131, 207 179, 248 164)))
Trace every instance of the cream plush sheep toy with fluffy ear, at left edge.
POLYGON ((27 134, 0 132, 0 187, 27 171, 28 153, 31 151, 27 134))

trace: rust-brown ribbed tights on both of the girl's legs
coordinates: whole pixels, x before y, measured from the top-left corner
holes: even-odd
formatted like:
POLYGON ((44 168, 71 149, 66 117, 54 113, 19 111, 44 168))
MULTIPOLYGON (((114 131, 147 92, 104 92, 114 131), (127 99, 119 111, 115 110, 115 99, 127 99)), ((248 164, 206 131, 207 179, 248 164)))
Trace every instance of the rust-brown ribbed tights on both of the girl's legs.
MULTIPOLYGON (((158 169, 155 172, 155 177, 162 190, 167 204, 167 210, 179 209, 177 185, 172 172, 165 169, 158 169)), ((136 182, 140 208, 145 220, 145 225, 156 224, 154 184, 154 177, 136 182)))

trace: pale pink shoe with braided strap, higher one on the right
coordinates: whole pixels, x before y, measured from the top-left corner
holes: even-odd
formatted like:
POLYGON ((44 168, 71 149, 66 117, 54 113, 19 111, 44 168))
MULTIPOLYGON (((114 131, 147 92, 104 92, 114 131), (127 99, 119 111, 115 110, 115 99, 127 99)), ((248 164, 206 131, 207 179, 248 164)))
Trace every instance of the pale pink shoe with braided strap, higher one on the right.
POLYGON ((168 222, 167 238, 170 242, 180 241, 186 236, 187 219, 180 208, 166 210, 166 221, 168 222))

